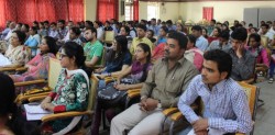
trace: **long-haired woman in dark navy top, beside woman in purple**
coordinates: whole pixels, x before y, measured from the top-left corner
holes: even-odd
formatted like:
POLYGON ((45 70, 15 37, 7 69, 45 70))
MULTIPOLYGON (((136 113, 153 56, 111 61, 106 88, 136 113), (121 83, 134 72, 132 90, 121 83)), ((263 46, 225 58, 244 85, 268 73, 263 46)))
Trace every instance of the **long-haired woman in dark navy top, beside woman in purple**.
POLYGON ((97 69, 95 72, 101 74, 99 77, 118 76, 131 66, 132 55, 128 49, 127 36, 118 35, 112 43, 107 65, 102 69, 97 69))

